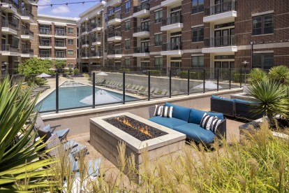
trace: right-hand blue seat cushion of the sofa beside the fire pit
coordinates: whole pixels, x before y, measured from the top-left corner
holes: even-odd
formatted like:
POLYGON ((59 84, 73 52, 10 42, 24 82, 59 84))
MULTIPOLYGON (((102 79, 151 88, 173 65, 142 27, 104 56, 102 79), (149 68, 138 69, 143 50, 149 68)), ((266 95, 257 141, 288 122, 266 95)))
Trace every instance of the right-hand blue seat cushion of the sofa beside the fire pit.
POLYGON ((193 139, 193 141, 202 141, 203 143, 212 143, 214 141, 215 134, 212 131, 203 129, 198 124, 182 124, 178 127, 175 127, 174 130, 179 131, 182 134, 186 134, 186 138, 193 139))

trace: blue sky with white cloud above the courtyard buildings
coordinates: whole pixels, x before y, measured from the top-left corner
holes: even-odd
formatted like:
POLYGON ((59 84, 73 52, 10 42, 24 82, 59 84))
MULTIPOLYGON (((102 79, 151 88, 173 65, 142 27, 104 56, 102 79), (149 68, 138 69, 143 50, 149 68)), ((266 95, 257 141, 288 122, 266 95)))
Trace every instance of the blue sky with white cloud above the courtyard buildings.
MULTIPOLYGON (((61 6, 50 6, 53 3, 73 3, 73 2, 85 2, 91 0, 39 0, 38 1, 38 14, 45 15, 56 15, 60 17, 79 17, 80 13, 96 5, 98 2, 87 2, 87 3, 75 3, 61 5, 61 6), (48 6, 43 6, 48 5, 48 6)), ((93 0, 92 0, 93 1, 93 0)))

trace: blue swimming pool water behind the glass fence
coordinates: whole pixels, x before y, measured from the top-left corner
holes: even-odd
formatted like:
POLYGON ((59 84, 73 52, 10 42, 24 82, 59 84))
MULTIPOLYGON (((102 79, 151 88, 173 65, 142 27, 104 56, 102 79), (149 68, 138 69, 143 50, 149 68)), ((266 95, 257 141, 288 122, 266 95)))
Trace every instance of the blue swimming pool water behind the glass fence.
MULTIPOLYGON (((68 108, 83 108, 91 106, 87 103, 80 102, 87 96, 92 94, 92 87, 88 85, 83 85, 81 83, 68 84, 69 82, 65 82, 59 87, 59 110, 64 110, 68 108)), ((96 92, 101 89, 96 88, 96 92)), ((117 92, 112 92, 109 90, 105 90, 108 94, 111 94, 116 99, 119 99, 119 103, 122 102, 122 94, 117 92)), ((92 96, 91 96, 92 99, 92 96)), ((133 101, 135 98, 133 96, 126 95, 126 101, 133 101)), ((97 101, 97 98, 96 98, 97 101)), ((105 102, 101 103, 105 104, 105 102)), ((54 111, 56 110, 56 92, 55 90, 45 97, 42 101, 40 101, 36 105, 36 109, 39 109, 40 112, 54 111)))

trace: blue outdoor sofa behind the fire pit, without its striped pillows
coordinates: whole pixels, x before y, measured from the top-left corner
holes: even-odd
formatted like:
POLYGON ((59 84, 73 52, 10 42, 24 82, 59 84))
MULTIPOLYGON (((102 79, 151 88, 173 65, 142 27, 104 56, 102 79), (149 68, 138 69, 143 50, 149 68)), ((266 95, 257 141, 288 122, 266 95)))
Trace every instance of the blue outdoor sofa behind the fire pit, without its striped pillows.
POLYGON ((226 137, 226 119, 223 117, 223 113, 211 113, 195 108, 177 106, 168 102, 165 103, 165 106, 173 106, 172 118, 154 116, 154 109, 156 107, 151 106, 149 107, 149 120, 186 134, 186 138, 195 142, 213 143, 215 136, 218 138, 226 137), (218 119, 222 120, 221 123, 218 124, 215 133, 200 127, 200 122, 204 113, 216 116, 218 119))

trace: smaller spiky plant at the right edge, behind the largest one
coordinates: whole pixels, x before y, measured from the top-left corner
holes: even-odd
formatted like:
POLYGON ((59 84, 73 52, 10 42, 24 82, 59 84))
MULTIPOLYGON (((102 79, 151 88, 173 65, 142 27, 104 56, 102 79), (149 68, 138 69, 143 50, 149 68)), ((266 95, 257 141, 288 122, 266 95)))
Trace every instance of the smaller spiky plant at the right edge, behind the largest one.
POLYGON ((270 69, 268 77, 283 85, 289 85, 289 68, 287 66, 274 66, 270 69))

